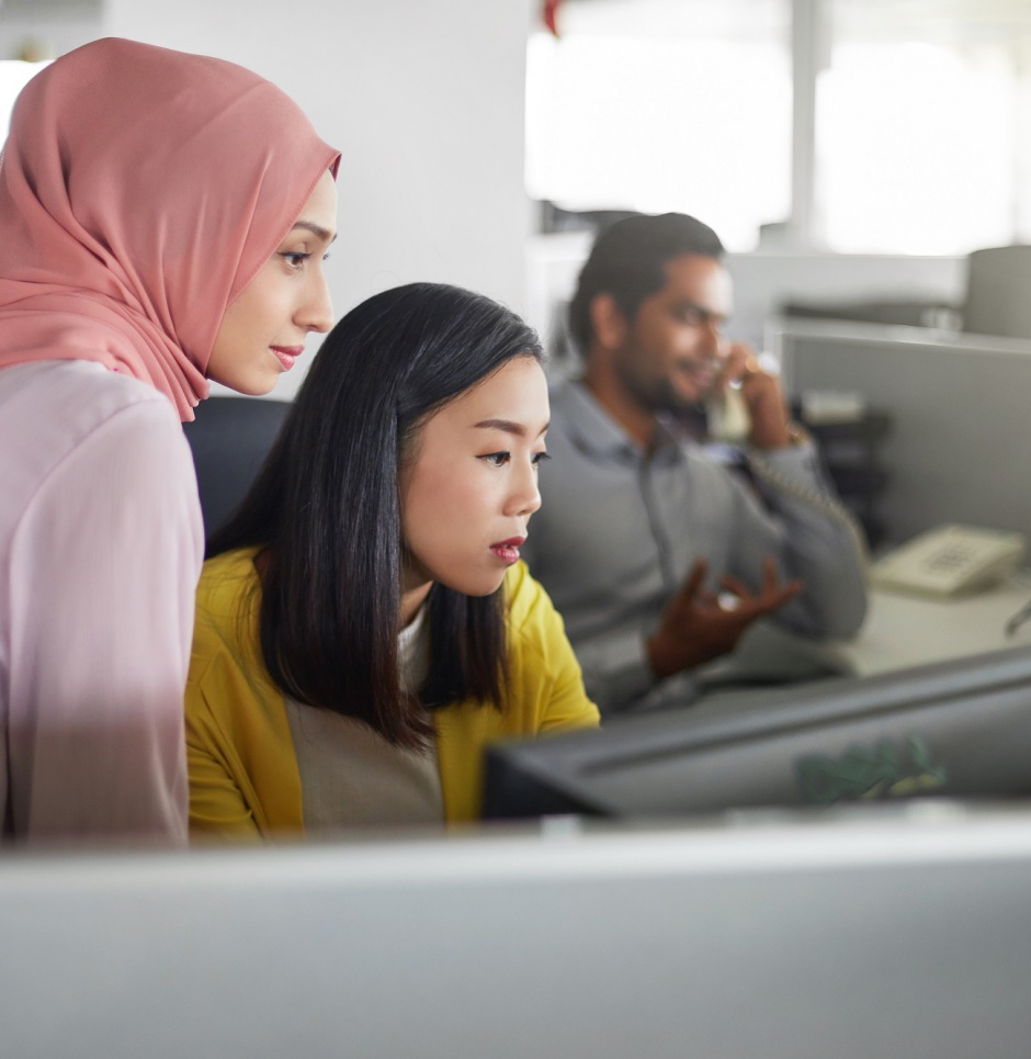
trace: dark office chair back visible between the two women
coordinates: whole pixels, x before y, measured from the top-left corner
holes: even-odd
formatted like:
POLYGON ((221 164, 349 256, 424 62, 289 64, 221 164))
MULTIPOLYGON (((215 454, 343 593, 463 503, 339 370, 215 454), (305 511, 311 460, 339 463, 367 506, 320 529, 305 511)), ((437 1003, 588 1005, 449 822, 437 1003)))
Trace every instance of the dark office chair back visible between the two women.
POLYGON ((193 452, 204 536, 211 537, 250 488, 290 403, 253 397, 208 397, 196 419, 183 424, 193 452))

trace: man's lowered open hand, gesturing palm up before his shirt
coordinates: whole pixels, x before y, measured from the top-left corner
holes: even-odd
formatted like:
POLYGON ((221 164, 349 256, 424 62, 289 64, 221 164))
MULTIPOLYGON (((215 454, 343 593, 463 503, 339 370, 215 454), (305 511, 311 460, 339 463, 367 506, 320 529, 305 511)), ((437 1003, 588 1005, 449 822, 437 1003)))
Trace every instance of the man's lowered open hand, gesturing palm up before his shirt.
POLYGON ((758 595, 733 577, 720 584, 736 597, 732 608, 703 588, 707 564, 695 561, 687 579, 662 613, 646 649, 657 677, 672 676, 733 651, 745 630, 757 619, 773 613, 802 592, 801 581, 778 585, 777 563, 762 563, 762 587, 758 595))

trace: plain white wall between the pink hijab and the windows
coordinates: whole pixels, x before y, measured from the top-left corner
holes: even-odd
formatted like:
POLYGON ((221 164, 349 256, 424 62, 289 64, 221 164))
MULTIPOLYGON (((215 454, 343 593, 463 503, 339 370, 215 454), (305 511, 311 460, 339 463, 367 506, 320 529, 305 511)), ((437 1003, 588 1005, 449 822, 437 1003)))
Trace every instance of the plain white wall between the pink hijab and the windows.
MULTIPOLYGON (((104 32, 251 67, 340 147, 338 316, 413 280, 524 312, 530 18, 530 0, 107 0, 104 32)), ((274 396, 296 391, 305 363, 274 396)))

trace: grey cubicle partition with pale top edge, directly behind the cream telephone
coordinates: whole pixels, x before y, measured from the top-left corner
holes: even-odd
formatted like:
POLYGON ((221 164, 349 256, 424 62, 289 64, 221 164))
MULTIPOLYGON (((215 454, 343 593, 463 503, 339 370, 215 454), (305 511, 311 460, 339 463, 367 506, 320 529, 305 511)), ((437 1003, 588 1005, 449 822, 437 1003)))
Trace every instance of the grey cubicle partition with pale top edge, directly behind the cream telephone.
POLYGON ((793 396, 858 392, 891 416, 879 446, 890 540, 942 522, 1031 538, 1031 341, 794 319, 768 337, 793 396))

